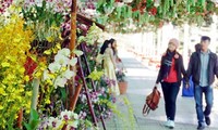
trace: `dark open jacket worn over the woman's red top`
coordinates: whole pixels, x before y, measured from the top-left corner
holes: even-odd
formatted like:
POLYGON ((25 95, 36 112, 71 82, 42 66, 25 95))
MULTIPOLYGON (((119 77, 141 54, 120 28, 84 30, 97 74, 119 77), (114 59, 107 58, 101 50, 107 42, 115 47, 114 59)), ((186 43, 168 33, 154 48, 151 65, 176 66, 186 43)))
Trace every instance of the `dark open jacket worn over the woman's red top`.
MULTIPOLYGON (((186 73, 185 73, 185 69, 184 69, 182 55, 179 54, 178 52, 175 54, 179 55, 178 58, 174 58, 175 70, 177 70, 177 74, 178 74, 177 79, 178 79, 179 83, 181 84, 182 75, 186 76, 186 73)), ((165 74, 164 74, 164 61, 165 61, 166 56, 167 55, 164 55, 161 57, 160 69, 159 69, 159 74, 158 74, 156 83, 161 82, 164 80, 164 78, 166 78, 165 74)))

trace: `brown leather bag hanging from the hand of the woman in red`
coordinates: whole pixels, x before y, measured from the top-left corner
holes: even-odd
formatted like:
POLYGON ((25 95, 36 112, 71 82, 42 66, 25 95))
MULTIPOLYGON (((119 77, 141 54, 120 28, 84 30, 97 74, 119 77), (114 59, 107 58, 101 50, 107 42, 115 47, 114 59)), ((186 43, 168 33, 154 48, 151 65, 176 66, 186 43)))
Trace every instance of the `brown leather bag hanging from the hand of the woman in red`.
POLYGON ((157 90, 157 87, 154 87, 153 92, 145 99, 143 115, 144 116, 148 115, 150 109, 155 110, 158 107, 159 100, 160 100, 160 92, 157 90))

